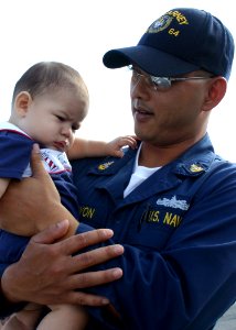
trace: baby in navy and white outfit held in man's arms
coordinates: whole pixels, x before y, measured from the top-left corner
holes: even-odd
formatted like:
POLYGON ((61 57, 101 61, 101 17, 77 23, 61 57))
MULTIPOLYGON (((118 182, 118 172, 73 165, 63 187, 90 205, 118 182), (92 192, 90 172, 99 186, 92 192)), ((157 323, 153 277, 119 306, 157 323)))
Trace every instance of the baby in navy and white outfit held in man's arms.
MULTIPOLYGON (((56 62, 37 63, 17 82, 10 119, 0 123, 0 198, 12 179, 31 175, 31 150, 37 143, 44 167, 60 193, 62 204, 73 215, 67 235, 76 233, 78 226, 83 226, 77 221, 76 188, 68 158, 106 155, 121 157, 122 146, 136 147, 133 136, 117 138, 108 143, 75 138, 76 130, 88 112, 88 91, 77 70, 56 62)), ((32 219, 32 234, 34 227, 37 224, 32 219)), ((10 233, 1 230, 1 272, 20 258, 29 239, 18 235, 18 232, 15 234, 15 231, 10 233)), ((51 311, 39 323, 42 306, 28 304, 10 321, 3 320, 2 329, 85 328, 87 315, 79 306, 57 305, 49 308, 51 311)))

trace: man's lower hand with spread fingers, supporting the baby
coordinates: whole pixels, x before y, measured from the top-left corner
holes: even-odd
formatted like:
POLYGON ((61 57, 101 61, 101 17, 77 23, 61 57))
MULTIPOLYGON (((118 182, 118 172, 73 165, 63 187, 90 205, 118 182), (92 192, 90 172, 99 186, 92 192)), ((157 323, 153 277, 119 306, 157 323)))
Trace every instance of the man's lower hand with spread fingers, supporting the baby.
POLYGON ((65 220, 34 235, 20 261, 6 270, 1 289, 9 301, 88 306, 108 302, 106 298, 82 293, 79 288, 120 278, 120 268, 98 272, 85 270, 121 255, 124 248, 109 245, 74 255, 86 246, 108 240, 112 237, 112 231, 98 229, 55 243, 64 237, 67 229, 68 221, 65 220))

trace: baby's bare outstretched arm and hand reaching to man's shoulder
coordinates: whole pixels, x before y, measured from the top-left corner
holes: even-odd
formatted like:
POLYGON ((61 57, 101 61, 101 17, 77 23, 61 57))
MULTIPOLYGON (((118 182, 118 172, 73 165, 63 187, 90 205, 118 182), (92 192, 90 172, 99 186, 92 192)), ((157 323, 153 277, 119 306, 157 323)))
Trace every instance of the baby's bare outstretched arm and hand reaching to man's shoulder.
POLYGON ((119 136, 110 142, 92 141, 76 138, 73 145, 67 152, 67 156, 69 160, 99 156, 122 157, 124 152, 121 151, 121 147, 125 145, 129 145, 130 147, 136 148, 136 136, 119 136))

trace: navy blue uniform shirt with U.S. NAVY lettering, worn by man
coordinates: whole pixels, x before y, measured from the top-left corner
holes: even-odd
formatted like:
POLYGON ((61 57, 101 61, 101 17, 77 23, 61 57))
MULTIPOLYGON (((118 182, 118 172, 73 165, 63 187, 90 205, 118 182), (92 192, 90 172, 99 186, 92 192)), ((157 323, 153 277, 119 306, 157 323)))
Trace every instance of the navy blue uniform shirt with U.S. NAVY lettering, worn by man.
POLYGON ((124 198, 136 154, 73 163, 79 220, 112 229, 125 246, 106 265, 121 267, 122 278, 92 289, 124 326, 105 318, 92 329, 212 329, 236 299, 236 165, 206 134, 124 198))

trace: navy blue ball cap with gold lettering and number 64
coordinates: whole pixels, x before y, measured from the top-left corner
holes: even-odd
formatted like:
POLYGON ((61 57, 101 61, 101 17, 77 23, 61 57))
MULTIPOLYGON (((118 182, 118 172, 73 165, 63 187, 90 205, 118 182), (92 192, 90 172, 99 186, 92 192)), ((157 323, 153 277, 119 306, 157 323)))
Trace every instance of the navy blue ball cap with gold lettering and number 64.
POLYGON ((230 76, 234 38, 211 13, 192 8, 168 11, 154 21, 137 46, 111 50, 104 65, 137 65, 153 76, 176 76, 204 69, 226 79, 230 76))

